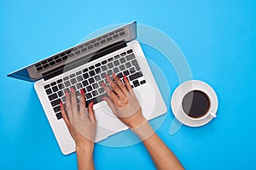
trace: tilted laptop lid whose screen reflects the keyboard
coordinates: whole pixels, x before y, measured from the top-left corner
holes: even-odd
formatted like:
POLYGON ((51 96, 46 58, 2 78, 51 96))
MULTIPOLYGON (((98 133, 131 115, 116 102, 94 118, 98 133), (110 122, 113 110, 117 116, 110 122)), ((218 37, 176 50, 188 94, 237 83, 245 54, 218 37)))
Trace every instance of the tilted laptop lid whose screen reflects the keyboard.
POLYGON ((98 59, 105 54, 125 47, 137 37, 137 22, 131 22, 113 31, 108 31, 101 36, 49 56, 37 63, 28 65, 18 71, 9 73, 8 77, 14 77, 28 82, 36 82, 41 78, 48 80, 69 71, 79 65, 84 65, 91 60, 98 59), (64 70, 65 68, 65 70, 64 70))

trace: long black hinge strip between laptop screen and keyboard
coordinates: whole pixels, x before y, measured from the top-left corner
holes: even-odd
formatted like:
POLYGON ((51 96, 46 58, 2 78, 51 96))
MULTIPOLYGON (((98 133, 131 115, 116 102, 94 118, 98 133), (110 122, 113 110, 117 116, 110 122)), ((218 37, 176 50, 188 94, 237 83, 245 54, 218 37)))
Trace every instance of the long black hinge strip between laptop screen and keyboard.
POLYGON ((67 63, 66 65, 61 65, 51 71, 44 72, 42 74, 44 81, 49 80, 52 77, 56 77, 58 75, 61 75, 63 72, 70 71, 74 68, 79 67, 80 65, 84 65, 86 63, 89 63, 90 61, 93 61, 95 59, 99 59, 102 56, 105 56, 107 54, 111 54, 114 51, 127 47, 127 44, 125 41, 115 42, 112 45, 109 45, 106 48, 102 48, 98 50, 96 53, 93 54, 86 54, 84 57, 81 57, 79 59, 73 60, 70 63, 67 63))

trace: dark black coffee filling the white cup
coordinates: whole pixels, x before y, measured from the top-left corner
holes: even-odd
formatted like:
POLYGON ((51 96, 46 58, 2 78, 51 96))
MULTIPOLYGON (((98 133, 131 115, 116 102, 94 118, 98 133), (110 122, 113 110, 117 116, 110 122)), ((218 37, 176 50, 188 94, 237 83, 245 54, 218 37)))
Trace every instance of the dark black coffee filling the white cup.
POLYGON ((183 98, 183 111, 190 117, 199 118, 207 114, 210 107, 210 99, 207 94, 199 90, 193 90, 183 98))

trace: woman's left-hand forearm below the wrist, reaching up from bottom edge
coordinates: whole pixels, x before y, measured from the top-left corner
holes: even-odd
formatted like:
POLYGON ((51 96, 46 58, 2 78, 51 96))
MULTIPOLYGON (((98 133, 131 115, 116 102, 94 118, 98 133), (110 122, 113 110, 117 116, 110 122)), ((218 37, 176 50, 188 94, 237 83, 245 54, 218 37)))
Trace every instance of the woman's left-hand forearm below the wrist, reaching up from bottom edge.
POLYGON ((92 159, 93 148, 92 149, 76 149, 78 167, 79 170, 91 170, 94 169, 94 162, 92 159))

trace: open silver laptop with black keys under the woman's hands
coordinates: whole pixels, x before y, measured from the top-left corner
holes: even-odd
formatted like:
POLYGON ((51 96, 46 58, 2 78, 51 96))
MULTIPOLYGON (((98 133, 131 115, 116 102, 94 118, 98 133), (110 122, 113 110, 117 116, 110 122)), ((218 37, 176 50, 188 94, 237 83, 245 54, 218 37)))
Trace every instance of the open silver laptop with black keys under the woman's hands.
POLYGON ((76 90, 78 104, 81 88, 86 105, 92 100, 95 103, 96 142, 128 129, 102 101, 106 93, 101 82, 106 82, 106 74, 111 76, 114 72, 121 80, 124 74, 129 78, 147 120, 166 113, 166 104, 136 38, 137 22, 132 22, 8 75, 35 82, 38 99, 64 155, 75 151, 59 105, 60 101, 65 105, 64 92, 70 87, 76 90))

